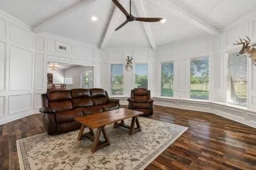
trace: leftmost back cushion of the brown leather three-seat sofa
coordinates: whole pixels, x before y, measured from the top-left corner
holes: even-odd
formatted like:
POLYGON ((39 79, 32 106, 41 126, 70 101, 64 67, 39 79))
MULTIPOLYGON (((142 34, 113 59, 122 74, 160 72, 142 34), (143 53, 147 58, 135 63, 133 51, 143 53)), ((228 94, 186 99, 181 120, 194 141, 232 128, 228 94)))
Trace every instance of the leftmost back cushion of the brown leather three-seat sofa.
POLYGON ((47 92, 49 107, 56 112, 73 109, 72 97, 69 90, 54 90, 47 92))

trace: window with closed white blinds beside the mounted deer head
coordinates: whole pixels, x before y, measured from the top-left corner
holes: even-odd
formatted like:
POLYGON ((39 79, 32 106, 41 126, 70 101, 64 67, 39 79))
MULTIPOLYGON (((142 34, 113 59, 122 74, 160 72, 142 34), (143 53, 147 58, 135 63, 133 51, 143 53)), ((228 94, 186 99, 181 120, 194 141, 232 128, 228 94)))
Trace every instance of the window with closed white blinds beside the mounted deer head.
POLYGON ((247 104, 247 56, 229 54, 227 58, 227 102, 247 104))

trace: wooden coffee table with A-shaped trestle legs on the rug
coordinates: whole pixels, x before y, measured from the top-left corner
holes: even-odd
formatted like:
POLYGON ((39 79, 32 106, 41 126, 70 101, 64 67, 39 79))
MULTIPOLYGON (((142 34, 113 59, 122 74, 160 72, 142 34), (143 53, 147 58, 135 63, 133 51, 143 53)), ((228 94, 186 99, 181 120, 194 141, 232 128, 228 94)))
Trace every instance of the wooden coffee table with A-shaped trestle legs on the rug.
POLYGON ((83 137, 87 137, 93 141, 91 151, 94 153, 96 150, 110 145, 107 131, 105 129, 106 125, 114 123, 114 128, 118 126, 125 127, 129 129, 129 135, 134 132, 141 131, 140 122, 137 116, 143 114, 143 112, 133 111, 129 109, 117 109, 113 111, 107 111, 102 113, 89 114, 85 116, 75 117, 75 120, 82 124, 80 132, 78 134, 77 140, 81 140, 83 137), (125 119, 131 118, 131 125, 125 124, 125 119), (118 123, 121 121, 120 123, 118 123), (137 128, 135 128, 135 123, 137 128), (89 128, 90 132, 84 133, 85 128, 89 128), (97 128, 97 132, 94 135, 92 129, 97 128), (101 132, 105 138, 105 141, 100 141, 101 132))

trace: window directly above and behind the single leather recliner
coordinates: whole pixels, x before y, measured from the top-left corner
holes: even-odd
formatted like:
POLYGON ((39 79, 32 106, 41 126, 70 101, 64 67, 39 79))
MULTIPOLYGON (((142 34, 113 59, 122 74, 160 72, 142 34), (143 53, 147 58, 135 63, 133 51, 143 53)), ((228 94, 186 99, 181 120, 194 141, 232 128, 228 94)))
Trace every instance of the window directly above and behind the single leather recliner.
POLYGON ((135 64, 134 88, 148 88, 148 64, 135 64))

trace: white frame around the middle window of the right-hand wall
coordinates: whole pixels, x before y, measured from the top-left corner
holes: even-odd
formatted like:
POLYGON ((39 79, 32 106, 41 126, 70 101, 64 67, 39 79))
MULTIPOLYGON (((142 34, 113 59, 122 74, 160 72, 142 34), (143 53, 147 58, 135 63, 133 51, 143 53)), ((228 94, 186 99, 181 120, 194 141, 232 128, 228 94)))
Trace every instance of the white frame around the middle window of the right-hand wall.
POLYGON ((188 59, 188 80, 189 80, 189 99, 191 100, 201 100, 201 101, 210 101, 211 100, 211 60, 210 60, 210 55, 206 56, 201 56, 201 57, 191 57, 188 59), (208 93, 208 99, 199 99, 199 98, 191 98, 191 60, 196 60, 196 59, 209 59, 209 93, 208 93))

